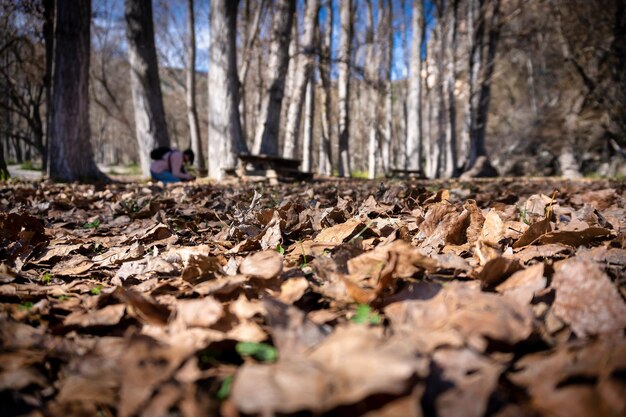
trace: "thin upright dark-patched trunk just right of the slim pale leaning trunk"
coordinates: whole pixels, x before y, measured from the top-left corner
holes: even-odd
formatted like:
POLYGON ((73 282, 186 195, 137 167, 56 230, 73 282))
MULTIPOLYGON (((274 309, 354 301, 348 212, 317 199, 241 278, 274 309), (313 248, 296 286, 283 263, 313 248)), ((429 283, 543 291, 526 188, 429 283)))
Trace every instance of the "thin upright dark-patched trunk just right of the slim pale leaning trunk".
MULTIPOLYGON (((320 175, 332 175, 333 174, 333 158, 332 158, 332 97, 330 93, 330 66, 331 66, 331 47, 332 47, 332 33, 333 33, 333 7, 332 4, 327 4, 326 8, 326 31, 322 35, 320 32, 321 53, 318 61, 318 70, 320 73, 320 79, 322 80, 322 109, 321 109, 321 122, 322 122, 322 141, 320 143, 318 173, 320 175)), ((321 25, 320 25, 321 27, 321 25)))

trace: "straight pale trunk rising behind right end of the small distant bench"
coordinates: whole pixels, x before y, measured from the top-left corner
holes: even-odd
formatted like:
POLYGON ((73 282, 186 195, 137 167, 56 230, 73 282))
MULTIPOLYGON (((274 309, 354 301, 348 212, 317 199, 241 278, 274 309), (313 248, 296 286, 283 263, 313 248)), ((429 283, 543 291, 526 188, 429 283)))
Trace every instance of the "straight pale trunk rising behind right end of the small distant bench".
POLYGON ((422 170, 422 137, 421 137, 421 72, 422 72, 422 19, 424 0, 413 0, 411 44, 411 62, 409 69, 409 91, 407 98, 407 134, 406 134, 406 168, 422 170))

